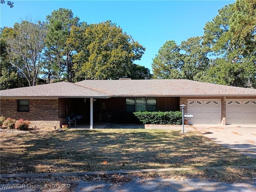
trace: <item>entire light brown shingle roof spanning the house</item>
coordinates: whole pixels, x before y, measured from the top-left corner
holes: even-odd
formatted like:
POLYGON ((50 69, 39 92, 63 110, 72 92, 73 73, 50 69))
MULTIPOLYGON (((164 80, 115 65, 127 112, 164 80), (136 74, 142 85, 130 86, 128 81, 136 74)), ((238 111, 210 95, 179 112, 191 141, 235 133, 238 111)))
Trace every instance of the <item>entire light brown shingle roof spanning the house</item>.
POLYGON ((187 79, 84 80, 0 91, 1 97, 256 96, 256 89, 187 79))

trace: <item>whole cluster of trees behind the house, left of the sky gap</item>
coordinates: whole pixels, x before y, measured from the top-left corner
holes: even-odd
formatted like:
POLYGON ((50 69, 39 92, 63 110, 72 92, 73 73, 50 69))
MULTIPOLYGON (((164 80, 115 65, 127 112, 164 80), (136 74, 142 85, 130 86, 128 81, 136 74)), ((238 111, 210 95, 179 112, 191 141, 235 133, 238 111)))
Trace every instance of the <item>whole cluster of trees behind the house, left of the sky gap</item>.
POLYGON ((16 23, 0 35, 1 89, 54 81, 151 78, 149 69, 134 63, 145 48, 132 36, 111 21, 80 22, 69 9, 54 10, 46 22, 16 23))

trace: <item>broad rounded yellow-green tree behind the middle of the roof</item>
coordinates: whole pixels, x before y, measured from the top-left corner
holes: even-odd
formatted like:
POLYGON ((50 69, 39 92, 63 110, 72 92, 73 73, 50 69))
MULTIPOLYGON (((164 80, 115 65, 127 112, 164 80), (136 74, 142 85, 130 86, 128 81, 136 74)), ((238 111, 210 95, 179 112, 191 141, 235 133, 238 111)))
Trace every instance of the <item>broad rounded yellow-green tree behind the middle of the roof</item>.
POLYGON ((111 21, 86 28, 81 50, 74 55, 76 79, 116 79, 128 76, 145 51, 111 21))

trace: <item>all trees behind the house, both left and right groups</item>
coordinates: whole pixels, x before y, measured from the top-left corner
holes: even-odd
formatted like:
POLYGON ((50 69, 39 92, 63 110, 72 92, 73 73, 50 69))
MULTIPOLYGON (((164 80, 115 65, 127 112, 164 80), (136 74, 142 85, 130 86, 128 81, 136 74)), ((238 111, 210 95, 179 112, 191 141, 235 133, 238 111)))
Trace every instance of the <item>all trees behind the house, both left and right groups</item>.
POLYGON ((120 26, 111 21, 88 25, 65 8, 45 22, 24 20, 2 28, 0 40, 1 89, 124 76, 256 88, 255 0, 236 0, 218 10, 201 37, 180 45, 167 40, 152 61, 152 75, 136 64, 146 48, 120 26))

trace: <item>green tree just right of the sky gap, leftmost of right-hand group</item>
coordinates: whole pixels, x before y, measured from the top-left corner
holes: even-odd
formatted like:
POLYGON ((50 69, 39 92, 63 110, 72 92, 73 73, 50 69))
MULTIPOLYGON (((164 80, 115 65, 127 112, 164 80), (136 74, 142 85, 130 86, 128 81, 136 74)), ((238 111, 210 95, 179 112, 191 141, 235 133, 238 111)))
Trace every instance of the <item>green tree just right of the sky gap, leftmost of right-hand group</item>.
POLYGON ((159 49, 153 59, 152 70, 154 79, 180 79, 183 55, 179 46, 172 40, 167 41, 159 49))

